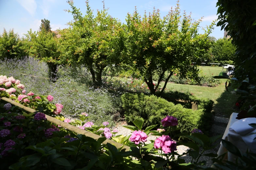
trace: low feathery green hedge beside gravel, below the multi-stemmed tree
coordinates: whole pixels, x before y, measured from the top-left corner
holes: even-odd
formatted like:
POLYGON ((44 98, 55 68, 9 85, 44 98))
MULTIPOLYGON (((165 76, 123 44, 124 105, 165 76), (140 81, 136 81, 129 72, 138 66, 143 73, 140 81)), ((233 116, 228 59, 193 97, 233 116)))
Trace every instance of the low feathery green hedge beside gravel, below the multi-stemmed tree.
POLYGON ((125 119, 128 123, 137 118, 143 118, 145 126, 149 126, 159 124, 166 115, 169 115, 178 119, 181 133, 190 133, 194 128, 207 132, 210 128, 209 124, 211 123, 209 120, 212 120, 212 114, 206 112, 205 109, 192 110, 184 108, 180 104, 175 105, 165 99, 154 95, 148 96, 143 93, 126 93, 121 98, 125 119))

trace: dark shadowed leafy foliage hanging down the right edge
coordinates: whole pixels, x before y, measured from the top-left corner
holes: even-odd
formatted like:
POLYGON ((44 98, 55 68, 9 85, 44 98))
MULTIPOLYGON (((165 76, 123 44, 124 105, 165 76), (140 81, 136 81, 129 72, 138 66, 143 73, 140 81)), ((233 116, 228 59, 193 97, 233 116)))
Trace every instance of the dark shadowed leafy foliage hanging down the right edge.
POLYGON ((235 45, 235 87, 244 109, 256 114, 256 1, 218 0, 218 23, 235 45))

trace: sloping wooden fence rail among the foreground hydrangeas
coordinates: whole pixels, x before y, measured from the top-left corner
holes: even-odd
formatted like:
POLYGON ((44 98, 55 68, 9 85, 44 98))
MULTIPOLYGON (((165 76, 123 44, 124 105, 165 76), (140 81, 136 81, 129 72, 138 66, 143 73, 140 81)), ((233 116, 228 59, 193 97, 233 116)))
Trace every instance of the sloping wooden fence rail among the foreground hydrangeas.
MULTIPOLYGON (((32 108, 29 108, 29 107, 26 107, 26 106, 23 106, 22 104, 19 104, 19 103, 16 103, 15 101, 11 100, 11 99, 8 99, 6 97, 2 97, 1 100, 4 100, 14 106, 18 106, 19 108, 27 111, 27 112, 30 112, 30 113, 38 113, 38 111, 32 109, 32 108)), ((48 116, 48 115, 45 115, 46 119, 52 123, 55 123, 57 125, 60 125, 61 127, 63 128, 66 128, 70 131, 73 131, 73 132, 76 132, 77 134, 82 134, 82 135, 86 135, 88 137, 91 137, 91 138, 94 138, 95 140, 97 140, 98 138, 102 137, 102 136, 99 136, 99 135, 96 135, 94 133, 91 133, 91 132, 88 132, 86 130, 83 130, 83 129, 80 129, 76 126, 73 126, 69 123, 66 123, 66 122, 63 122, 63 121, 60 121, 58 119, 55 119, 51 116, 48 116)), ((126 145, 122 145, 121 143, 118 143, 118 142, 115 142, 113 140, 110 140, 110 139, 107 139, 103 142, 103 144, 107 144, 107 143, 110 143, 112 145, 115 145, 117 148, 120 148, 123 146, 123 149, 125 149, 126 151, 129 151, 130 147, 126 146, 126 145)))

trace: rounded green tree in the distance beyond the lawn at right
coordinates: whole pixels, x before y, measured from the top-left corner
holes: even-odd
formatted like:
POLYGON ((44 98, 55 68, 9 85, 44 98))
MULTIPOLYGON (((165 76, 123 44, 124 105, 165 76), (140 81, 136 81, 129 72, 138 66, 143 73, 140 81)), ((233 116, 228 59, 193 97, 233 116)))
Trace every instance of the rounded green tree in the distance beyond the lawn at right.
POLYGON ((214 60, 220 61, 234 61, 236 47, 227 38, 218 39, 212 47, 212 55, 214 60))

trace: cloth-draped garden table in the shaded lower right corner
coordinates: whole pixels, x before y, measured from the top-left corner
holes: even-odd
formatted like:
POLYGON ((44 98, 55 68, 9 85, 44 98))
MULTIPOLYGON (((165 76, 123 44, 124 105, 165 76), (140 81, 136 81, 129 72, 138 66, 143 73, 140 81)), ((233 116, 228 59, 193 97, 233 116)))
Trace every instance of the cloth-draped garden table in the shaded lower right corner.
MULTIPOLYGON (((235 145, 242 153, 246 153, 247 149, 249 152, 256 152, 256 140, 253 140, 256 137, 254 135, 248 135, 250 133, 255 133, 256 129, 249 126, 249 123, 255 123, 256 118, 245 118, 245 119, 236 119, 238 113, 232 113, 230 116, 229 123, 227 125, 226 131, 222 139, 231 142, 235 145)), ((220 143, 220 148, 218 150, 218 156, 224 154, 228 150, 220 143)), ((223 160, 230 162, 235 162, 236 156, 230 152, 227 152, 223 160)))

